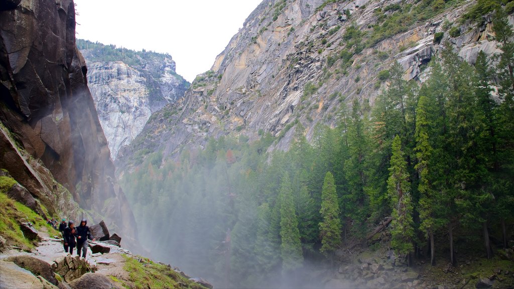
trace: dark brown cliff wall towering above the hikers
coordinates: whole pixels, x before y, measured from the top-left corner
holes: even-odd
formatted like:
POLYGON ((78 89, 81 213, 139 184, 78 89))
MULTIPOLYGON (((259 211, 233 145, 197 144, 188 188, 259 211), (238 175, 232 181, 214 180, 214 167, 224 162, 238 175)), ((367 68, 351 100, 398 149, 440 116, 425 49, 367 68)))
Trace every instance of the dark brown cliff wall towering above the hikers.
POLYGON ((74 3, 27 0, 9 7, 0 12, 0 167, 50 212, 73 211, 76 202, 133 240, 134 215, 116 182, 75 44, 74 3), (72 198, 64 193, 58 200, 60 186, 41 175, 72 198))

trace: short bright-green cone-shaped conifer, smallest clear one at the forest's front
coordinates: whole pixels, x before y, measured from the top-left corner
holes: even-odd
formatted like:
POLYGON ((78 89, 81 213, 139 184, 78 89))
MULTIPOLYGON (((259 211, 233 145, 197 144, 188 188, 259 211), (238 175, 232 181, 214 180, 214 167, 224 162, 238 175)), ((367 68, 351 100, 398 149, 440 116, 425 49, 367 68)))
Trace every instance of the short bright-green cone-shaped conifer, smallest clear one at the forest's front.
POLYGON ((321 210, 323 222, 319 224, 321 235, 320 251, 325 255, 334 252, 341 244, 341 220, 339 219, 339 201, 336 193, 334 176, 327 172, 321 193, 321 210))

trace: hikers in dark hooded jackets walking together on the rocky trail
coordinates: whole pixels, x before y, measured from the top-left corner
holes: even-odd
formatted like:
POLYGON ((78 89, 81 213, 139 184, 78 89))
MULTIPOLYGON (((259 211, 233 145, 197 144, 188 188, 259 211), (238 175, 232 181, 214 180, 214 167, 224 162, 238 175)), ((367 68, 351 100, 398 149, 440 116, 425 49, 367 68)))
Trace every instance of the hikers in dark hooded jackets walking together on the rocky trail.
POLYGON ((95 238, 91 236, 89 227, 87 226, 87 220, 82 219, 80 226, 76 227, 74 221, 68 221, 66 226, 66 219, 63 219, 59 225, 59 231, 63 235, 64 239, 64 251, 69 252, 73 255, 73 248, 77 246, 77 255, 80 256, 82 251, 82 258, 86 258, 87 252, 87 240, 95 241, 95 238))

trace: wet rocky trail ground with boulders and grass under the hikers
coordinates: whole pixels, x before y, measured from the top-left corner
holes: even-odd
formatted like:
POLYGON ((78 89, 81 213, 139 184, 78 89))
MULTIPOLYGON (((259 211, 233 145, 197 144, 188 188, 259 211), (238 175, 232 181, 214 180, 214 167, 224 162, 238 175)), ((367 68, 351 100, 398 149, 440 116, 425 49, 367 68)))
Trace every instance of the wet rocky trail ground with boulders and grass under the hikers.
MULTIPOLYGON (((32 251, 16 247, 0 254, 0 288, 140 288, 155 286, 202 288, 203 280, 191 279, 176 268, 157 264, 116 245, 90 242, 86 259, 64 252, 62 240, 42 228, 42 240, 32 251), (95 247, 106 253, 91 254, 95 247), (158 270, 158 273, 156 271, 158 270), (136 275, 134 275, 136 274, 136 275), (157 279, 157 276, 160 278, 157 279)), ((97 249, 98 250, 98 249, 97 249)))

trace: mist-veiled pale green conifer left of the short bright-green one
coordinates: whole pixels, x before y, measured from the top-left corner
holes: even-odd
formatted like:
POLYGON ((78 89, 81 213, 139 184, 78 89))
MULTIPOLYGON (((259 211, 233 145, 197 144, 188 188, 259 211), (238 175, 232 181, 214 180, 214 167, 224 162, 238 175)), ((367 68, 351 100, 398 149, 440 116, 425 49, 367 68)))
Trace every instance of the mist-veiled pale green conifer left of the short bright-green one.
POLYGON ((282 272, 288 273, 300 268, 303 263, 300 231, 288 172, 282 177, 279 199, 282 272))

